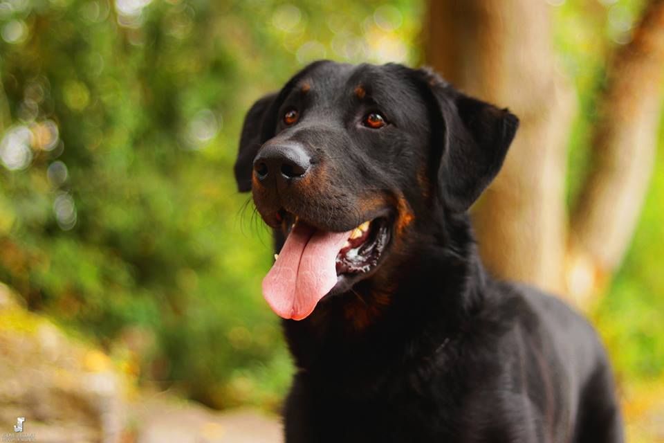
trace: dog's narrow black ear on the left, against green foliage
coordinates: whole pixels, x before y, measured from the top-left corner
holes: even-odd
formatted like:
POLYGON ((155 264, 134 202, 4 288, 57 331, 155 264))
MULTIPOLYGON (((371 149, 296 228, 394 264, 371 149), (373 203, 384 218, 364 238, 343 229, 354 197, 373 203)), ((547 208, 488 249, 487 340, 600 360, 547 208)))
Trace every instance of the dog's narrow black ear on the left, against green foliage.
POLYGON ((240 147, 234 166, 235 181, 237 181, 239 192, 249 192, 251 190, 254 158, 263 144, 261 136, 264 132, 264 125, 266 125, 266 120, 276 98, 277 93, 264 96, 254 103, 244 118, 240 147))

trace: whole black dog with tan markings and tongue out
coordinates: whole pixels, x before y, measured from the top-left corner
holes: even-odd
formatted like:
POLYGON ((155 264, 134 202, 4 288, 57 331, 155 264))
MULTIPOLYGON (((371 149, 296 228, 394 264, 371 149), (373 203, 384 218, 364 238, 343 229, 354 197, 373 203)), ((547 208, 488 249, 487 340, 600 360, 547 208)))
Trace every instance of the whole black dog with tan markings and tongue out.
POLYGON ((517 126, 398 64, 316 62, 250 109, 235 174, 280 254, 286 442, 623 441, 591 326, 477 255, 466 212, 517 126))

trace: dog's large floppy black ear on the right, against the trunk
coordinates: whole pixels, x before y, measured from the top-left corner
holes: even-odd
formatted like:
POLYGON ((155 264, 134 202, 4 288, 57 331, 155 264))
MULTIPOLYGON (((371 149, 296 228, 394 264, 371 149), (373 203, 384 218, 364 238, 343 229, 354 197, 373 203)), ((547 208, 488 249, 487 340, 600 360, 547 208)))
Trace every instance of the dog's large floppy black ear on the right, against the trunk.
MULTIPOLYGON (((416 71, 432 94, 444 134, 437 174, 445 205, 464 212, 496 177, 519 119, 507 109, 465 96, 430 69, 416 71)), ((435 123, 433 123, 435 124, 435 123)))

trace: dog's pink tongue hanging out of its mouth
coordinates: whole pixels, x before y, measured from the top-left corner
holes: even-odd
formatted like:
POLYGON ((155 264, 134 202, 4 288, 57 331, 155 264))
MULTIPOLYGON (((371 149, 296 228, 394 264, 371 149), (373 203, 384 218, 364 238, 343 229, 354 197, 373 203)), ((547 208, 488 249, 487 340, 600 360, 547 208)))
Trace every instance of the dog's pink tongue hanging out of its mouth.
POLYGON ((335 258, 350 235, 295 224, 263 279, 263 296, 279 316, 302 320, 337 282, 335 258))

